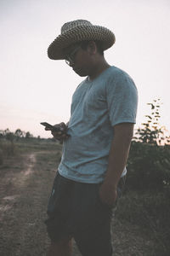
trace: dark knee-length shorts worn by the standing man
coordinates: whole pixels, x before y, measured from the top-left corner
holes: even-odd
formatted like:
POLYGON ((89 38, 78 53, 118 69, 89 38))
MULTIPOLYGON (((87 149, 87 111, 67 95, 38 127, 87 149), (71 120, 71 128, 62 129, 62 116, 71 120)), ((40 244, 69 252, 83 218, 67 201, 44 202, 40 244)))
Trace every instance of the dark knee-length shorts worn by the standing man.
MULTIPOLYGON (((122 193, 124 179, 118 186, 122 193)), ((114 207, 100 201, 99 184, 77 183, 59 175, 48 201, 48 236, 57 242, 74 237, 83 256, 111 256, 111 216, 114 207)))

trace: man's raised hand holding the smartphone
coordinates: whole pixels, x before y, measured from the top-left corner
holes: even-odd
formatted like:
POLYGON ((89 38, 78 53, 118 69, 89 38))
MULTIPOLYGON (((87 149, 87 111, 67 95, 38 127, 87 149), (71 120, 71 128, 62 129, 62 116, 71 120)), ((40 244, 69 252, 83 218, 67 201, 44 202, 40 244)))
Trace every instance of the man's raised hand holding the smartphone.
POLYGON ((54 125, 54 127, 59 128, 59 131, 51 131, 49 128, 45 127, 46 131, 51 131, 51 134, 54 136, 56 140, 59 140, 60 143, 62 143, 65 139, 69 137, 68 134, 66 134, 67 131, 67 125, 65 123, 60 123, 57 125, 54 125))

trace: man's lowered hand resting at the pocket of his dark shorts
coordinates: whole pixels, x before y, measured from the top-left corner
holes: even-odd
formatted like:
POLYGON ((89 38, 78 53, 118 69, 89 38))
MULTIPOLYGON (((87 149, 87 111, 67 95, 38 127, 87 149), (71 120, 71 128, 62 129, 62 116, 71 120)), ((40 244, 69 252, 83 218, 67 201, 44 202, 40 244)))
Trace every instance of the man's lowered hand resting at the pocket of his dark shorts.
POLYGON ((113 186, 112 184, 106 184, 103 183, 100 188, 99 188, 99 197, 100 200, 108 205, 108 206, 114 206, 116 203, 116 187, 113 186))

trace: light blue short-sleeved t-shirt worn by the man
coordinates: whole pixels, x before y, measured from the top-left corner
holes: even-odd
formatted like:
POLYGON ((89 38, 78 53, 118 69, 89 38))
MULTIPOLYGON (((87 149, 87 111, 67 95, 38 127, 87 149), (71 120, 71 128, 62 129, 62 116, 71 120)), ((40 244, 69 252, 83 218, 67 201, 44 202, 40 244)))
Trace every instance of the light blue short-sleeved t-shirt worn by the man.
MULTIPOLYGON (((82 81, 72 96, 70 137, 63 145, 60 175, 82 183, 101 183, 108 166, 113 126, 135 123, 137 103, 133 79, 117 67, 107 68, 93 81, 82 81)), ((125 168, 122 176, 126 172, 125 168)))

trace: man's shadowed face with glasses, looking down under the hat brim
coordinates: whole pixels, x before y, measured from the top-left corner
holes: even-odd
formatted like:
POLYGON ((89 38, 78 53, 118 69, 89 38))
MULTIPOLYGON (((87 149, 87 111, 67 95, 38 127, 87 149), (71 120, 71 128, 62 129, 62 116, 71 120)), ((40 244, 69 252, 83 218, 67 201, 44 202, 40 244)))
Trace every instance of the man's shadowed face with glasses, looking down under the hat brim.
POLYGON ((65 49, 65 61, 75 73, 84 77, 90 74, 92 58, 88 49, 82 49, 79 44, 74 44, 65 49))

